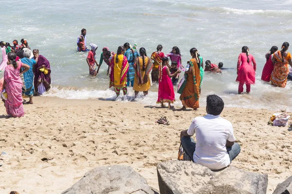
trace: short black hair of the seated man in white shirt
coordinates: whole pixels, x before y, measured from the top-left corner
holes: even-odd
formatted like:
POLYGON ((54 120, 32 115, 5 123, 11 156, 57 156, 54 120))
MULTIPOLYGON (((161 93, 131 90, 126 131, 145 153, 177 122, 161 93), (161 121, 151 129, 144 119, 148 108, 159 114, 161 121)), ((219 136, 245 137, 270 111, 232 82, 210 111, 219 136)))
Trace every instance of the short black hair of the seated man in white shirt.
POLYGON ((207 96, 208 113, 213 115, 219 115, 224 108, 224 102, 222 98, 213 94, 207 96))

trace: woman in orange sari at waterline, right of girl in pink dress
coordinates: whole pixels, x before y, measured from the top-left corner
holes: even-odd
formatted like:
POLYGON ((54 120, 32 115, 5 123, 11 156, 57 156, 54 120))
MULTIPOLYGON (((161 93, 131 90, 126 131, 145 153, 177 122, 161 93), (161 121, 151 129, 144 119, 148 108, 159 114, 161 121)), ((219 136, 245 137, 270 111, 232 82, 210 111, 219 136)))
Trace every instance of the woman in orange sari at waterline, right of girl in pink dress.
MULTIPOLYGON (((198 56, 198 50, 196 48, 190 49, 192 59, 190 60, 190 68, 185 72, 186 84, 183 89, 183 93, 180 96, 180 100, 183 103, 182 110, 186 107, 197 110, 199 108, 200 97, 200 59, 198 56), (199 64, 199 65, 198 65, 199 64)), ((182 86, 183 87, 183 86, 182 86)))

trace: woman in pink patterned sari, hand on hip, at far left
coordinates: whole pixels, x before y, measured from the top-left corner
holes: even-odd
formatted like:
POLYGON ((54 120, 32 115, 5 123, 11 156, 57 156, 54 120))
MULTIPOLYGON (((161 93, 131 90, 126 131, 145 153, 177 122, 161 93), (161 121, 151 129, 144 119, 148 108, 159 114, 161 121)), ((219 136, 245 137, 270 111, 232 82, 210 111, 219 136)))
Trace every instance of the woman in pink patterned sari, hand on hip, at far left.
POLYGON ((29 65, 16 61, 15 53, 8 53, 8 62, 4 72, 3 88, 7 93, 7 100, 5 100, 5 107, 7 114, 13 117, 20 117, 24 115, 22 105, 22 81, 20 75, 30 68, 29 65), (23 67, 23 71, 20 71, 23 67))

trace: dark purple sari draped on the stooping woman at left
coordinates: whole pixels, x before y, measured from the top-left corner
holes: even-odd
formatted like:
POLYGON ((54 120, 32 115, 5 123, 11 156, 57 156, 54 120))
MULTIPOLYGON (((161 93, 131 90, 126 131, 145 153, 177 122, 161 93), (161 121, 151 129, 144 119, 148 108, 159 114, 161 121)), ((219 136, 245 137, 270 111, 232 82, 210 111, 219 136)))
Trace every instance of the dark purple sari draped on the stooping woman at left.
MULTIPOLYGON (((34 57, 35 59, 35 57, 34 57)), ((40 83, 44 84, 44 87, 46 89, 46 92, 51 88, 51 66, 50 62, 42 55, 38 55, 38 61, 37 64, 34 66, 34 85, 35 85, 35 91, 37 93, 37 87, 40 83), (39 69, 45 67, 48 70, 47 74, 44 74, 44 72, 40 71, 39 69)))

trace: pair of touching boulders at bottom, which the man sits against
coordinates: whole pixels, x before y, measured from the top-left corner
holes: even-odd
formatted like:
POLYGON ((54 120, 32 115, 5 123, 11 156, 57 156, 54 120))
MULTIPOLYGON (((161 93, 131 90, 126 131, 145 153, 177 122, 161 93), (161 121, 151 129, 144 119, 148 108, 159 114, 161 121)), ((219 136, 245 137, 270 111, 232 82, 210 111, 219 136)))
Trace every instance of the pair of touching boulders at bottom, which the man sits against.
POLYGON ((160 194, 266 194, 268 175, 230 166, 213 172, 189 161, 167 161, 157 166, 160 194))

